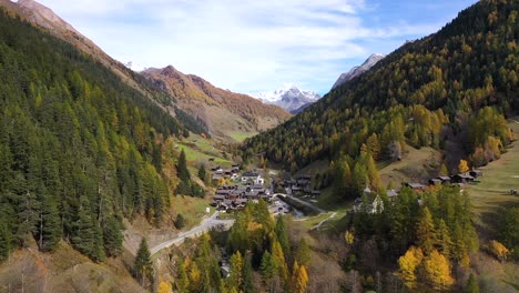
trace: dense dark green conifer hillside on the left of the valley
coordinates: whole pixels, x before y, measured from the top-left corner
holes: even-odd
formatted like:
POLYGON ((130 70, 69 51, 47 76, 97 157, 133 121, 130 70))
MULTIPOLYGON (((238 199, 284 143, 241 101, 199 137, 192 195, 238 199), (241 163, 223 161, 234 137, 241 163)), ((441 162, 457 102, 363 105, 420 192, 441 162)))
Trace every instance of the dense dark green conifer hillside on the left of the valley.
POLYGON ((175 119, 69 43, 0 12, 0 260, 63 239, 101 261, 122 219, 160 224, 175 119), (166 170, 165 170, 166 169, 166 170))

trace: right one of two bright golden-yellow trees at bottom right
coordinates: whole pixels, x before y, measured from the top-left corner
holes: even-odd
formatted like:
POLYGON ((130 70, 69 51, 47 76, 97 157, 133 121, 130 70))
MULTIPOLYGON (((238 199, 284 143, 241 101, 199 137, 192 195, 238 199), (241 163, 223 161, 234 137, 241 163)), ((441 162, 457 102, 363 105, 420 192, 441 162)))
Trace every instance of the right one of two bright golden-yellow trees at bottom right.
POLYGON ((448 290, 454 284, 449 260, 436 250, 424 261, 424 272, 426 280, 435 291, 448 290))

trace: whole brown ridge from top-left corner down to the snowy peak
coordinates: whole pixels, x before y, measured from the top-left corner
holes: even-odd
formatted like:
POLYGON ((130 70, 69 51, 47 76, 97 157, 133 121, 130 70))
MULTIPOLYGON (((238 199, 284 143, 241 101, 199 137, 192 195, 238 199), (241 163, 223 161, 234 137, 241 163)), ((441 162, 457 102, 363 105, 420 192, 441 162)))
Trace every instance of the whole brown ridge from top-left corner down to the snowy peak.
POLYGON ((172 115, 186 120, 185 124, 199 124, 190 128, 194 132, 205 129, 216 139, 233 141, 232 134, 252 135, 291 117, 278 107, 264 104, 246 94, 218 89, 196 75, 183 74, 173 67, 149 69, 142 74, 134 72, 37 1, 0 0, 0 4, 98 60, 124 83, 149 97, 172 115))

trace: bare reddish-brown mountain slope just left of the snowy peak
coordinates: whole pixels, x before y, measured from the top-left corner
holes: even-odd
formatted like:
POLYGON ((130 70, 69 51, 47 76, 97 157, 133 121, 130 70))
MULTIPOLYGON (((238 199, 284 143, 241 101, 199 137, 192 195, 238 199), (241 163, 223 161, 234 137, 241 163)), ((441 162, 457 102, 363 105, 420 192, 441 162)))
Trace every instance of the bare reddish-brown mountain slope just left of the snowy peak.
POLYGON ((230 140, 232 133, 256 133, 271 129, 291 115, 276 105, 222 90, 204 79, 184 74, 173 67, 142 72, 155 87, 175 99, 175 104, 196 117, 211 134, 230 140))

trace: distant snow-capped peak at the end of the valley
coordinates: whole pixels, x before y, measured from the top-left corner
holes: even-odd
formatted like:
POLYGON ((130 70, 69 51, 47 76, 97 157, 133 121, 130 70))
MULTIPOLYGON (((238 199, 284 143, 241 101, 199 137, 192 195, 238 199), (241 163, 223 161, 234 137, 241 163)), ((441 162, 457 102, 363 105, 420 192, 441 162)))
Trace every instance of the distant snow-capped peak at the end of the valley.
POLYGON ((320 99, 320 95, 313 91, 303 91, 295 85, 287 85, 283 90, 261 92, 254 94, 255 98, 265 103, 277 104, 292 112, 304 104, 313 103, 320 99))

